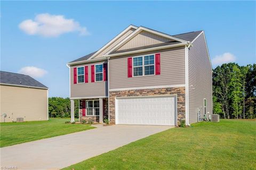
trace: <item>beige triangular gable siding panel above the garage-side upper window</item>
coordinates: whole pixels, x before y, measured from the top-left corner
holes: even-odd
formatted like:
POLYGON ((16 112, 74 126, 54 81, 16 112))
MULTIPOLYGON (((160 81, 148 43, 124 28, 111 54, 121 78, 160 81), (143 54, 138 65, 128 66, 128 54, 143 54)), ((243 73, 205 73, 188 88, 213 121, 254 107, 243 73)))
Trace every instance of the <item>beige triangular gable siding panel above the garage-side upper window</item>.
POLYGON ((148 46, 148 45, 159 44, 159 43, 164 43, 168 41, 171 41, 171 40, 168 38, 157 36, 147 31, 142 31, 137 36, 133 37, 130 41, 128 41, 126 44, 124 44, 117 50, 148 46))

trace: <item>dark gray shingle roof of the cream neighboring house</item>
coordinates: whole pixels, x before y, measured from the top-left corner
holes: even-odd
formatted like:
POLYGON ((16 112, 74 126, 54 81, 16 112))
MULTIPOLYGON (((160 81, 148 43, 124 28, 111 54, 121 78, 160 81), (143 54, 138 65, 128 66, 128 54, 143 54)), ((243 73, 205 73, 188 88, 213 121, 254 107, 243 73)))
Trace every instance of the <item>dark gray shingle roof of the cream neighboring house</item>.
POLYGON ((0 71, 0 83, 13 84, 18 86, 47 88, 46 86, 44 86, 44 84, 36 81, 35 79, 31 78, 29 75, 11 73, 11 72, 5 72, 5 71, 0 71))

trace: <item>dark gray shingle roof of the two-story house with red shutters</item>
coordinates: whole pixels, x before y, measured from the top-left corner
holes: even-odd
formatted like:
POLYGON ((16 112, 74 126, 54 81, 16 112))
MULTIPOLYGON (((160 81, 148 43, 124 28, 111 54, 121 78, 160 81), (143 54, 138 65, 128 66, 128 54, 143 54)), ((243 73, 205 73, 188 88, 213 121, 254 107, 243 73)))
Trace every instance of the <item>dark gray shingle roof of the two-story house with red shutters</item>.
MULTIPOLYGON (((178 34, 178 35, 173 35, 173 37, 177 37, 177 38, 180 38, 180 39, 183 39, 183 40, 186 40, 186 41, 193 41, 199 35, 199 33, 201 33, 201 32, 202 32, 202 30, 201 31, 186 32, 186 33, 181 33, 181 34, 178 34)), ((125 49, 125 50, 119 50, 117 52, 113 52, 113 53, 110 53, 110 54, 116 54, 116 53, 122 53, 122 52, 130 52, 132 50, 138 50, 138 49, 145 49, 145 48, 151 48, 151 47, 170 45, 170 43, 177 44, 179 42, 172 41, 172 42, 168 42, 167 44, 166 43, 161 43, 161 44, 156 44, 156 45, 149 45, 149 46, 143 46, 143 47, 130 48, 130 49, 125 49)), ((78 61, 85 61, 88 58, 90 58, 96 52, 93 52, 91 54, 88 54, 86 56, 78 58, 77 60, 71 61, 70 63, 78 62, 78 61)))

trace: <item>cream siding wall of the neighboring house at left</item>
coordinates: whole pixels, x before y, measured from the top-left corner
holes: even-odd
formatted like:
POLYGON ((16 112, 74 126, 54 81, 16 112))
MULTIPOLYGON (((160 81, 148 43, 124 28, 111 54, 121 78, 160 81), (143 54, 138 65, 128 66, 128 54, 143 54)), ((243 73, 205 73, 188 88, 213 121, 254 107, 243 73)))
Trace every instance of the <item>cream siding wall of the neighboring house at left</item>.
MULTIPOLYGON (((47 120, 47 90, 0 85, 1 115, 7 114, 5 122, 23 117, 24 121, 47 120)), ((1 122, 4 122, 1 116, 1 122)))

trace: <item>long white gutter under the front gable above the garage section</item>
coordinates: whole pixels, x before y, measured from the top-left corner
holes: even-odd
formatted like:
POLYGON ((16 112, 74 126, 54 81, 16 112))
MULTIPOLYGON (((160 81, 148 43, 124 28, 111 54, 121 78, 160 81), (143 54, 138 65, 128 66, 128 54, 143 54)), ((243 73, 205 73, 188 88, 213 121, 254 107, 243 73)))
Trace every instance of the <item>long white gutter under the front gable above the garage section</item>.
POLYGON ((116 57, 116 56, 127 55, 127 54, 149 52, 151 50, 159 50, 159 49, 166 49, 166 48, 172 48, 172 47, 179 47, 179 46, 184 46, 184 45, 188 45, 188 42, 186 41, 185 43, 172 44, 172 45, 159 46, 159 47, 152 47, 152 48, 146 48, 146 49, 138 49, 138 50, 132 50, 130 52, 108 54, 108 55, 103 55, 103 57, 116 57))

